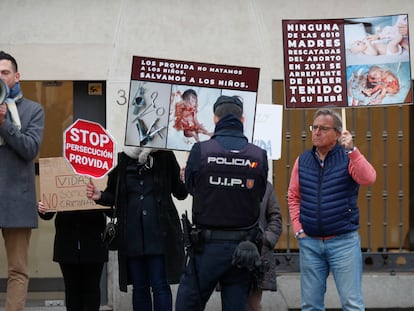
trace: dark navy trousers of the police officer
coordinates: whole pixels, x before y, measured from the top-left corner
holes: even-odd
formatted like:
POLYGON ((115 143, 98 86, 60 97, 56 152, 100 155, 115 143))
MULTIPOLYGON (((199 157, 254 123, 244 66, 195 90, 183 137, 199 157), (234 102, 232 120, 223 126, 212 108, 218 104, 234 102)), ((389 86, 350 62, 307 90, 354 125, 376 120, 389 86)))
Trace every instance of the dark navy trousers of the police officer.
POLYGON ((246 311, 249 272, 231 264, 238 242, 205 243, 181 277, 175 303, 176 311, 204 310, 216 285, 221 285, 223 311, 246 311), (196 273, 194 273, 194 266, 196 273), (200 308, 201 306, 201 308, 200 308))

